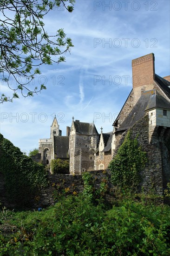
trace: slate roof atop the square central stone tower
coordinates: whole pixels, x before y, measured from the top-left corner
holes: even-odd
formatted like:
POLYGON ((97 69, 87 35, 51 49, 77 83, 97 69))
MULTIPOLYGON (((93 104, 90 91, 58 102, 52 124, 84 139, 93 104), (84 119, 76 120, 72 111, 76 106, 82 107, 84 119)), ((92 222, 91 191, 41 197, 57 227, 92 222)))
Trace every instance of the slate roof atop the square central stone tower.
POLYGON ((84 123, 73 121, 76 132, 83 135, 98 135, 98 131, 94 123, 84 123))

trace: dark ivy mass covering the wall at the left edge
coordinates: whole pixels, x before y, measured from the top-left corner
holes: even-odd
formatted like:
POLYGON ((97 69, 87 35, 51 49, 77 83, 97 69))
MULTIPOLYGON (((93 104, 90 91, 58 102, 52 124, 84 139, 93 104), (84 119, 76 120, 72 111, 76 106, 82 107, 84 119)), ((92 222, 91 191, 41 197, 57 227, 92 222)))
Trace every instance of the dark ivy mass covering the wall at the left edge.
POLYGON ((5 177, 7 195, 18 205, 27 205, 45 187, 44 167, 23 155, 20 148, 0 134, 0 172, 5 177))

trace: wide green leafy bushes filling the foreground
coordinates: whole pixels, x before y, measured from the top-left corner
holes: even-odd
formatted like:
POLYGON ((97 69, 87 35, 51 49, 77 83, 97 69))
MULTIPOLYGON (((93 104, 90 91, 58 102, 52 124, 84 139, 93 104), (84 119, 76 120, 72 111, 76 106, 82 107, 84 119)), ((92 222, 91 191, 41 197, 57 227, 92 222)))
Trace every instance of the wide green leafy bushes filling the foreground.
POLYGON ((40 212, 11 212, 17 230, 0 235, 0 255, 170 255, 170 207, 124 198, 106 211, 85 195, 63 197, 40 212), (22 224, 21 224, 22 222, 22 224))

